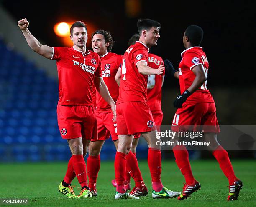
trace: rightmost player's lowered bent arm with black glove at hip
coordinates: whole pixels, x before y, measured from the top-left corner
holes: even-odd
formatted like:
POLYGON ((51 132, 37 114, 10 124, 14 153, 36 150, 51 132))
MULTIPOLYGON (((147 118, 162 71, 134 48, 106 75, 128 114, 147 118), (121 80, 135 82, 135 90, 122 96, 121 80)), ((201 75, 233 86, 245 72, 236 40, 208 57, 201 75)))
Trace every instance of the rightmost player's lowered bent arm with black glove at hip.
POLYGON ((179 95, 174 101, 174 107, 181 108, 182 104, 187 100, 187 98, 194 93, 198 88, 200 88, 203 83, 207 80, 207 75, 202 64, 193 67, 192 72, 195 74, 195 79, 191 86, 182 95, 179 95))

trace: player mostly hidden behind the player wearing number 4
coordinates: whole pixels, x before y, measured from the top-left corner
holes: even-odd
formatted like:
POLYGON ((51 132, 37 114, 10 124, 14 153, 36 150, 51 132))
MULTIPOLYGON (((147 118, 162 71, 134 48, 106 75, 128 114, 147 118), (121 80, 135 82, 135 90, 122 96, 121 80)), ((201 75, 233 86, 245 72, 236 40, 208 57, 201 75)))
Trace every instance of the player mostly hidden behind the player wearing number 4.
MULTIPOLYGON (((131 46, 139 40, 140 35, 134 34, 128 41, 128 46, 131 46)), ((148 66, 151 68, 157 69, 159 65, 163 62, 163 59, 157 55, 152 53, 148 54, 148 66)), ((165 72, 165 70, 164 70, 165 72)), ((153 119, 156 123, 157 131, 160 131, 160 126, 163 120, 163 112, 161 109, 161 98, 162 98, 162 86, 164 83, 164 72, 161 75, 148 75, 148 85, 147 85, 147 95, 148 95, 148 107, 151 110, 153 119)), ((120 84, 121 77, 121 68, 118 69, 118 72, 115 76, 115 81, 120 84)), ((131 152, 136 156, 136 147, 138 145, 138 141, 140 138, 140 134, 136 134, 133 139, 133 143, 131 146, 131 152)), ((130 184, 130 174, 129 171, 125 172, 125 184, 130 184)), ((116 187, 116 181, 113 180, 112 184, 116 187)), ((133 192, 131 192, 133 195, 133 192)))

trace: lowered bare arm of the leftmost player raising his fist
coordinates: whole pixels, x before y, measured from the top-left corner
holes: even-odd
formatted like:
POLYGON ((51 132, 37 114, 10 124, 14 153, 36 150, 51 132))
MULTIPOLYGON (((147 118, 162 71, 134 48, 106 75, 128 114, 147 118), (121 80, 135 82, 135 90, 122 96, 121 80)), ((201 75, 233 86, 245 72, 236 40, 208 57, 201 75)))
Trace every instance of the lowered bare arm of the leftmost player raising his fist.
POLYGON ((99 92, 99 94, 102 96, 102 98, 111 106, 111 110, 113 112, 113 122, 116 121, 116 112, 115 112, 115 102, 110 96, 110 93, 108 91, 108 87, 105 84, 102 77, 95 77, 94 79, 94 85, 96 87, 96 90, 99 92))

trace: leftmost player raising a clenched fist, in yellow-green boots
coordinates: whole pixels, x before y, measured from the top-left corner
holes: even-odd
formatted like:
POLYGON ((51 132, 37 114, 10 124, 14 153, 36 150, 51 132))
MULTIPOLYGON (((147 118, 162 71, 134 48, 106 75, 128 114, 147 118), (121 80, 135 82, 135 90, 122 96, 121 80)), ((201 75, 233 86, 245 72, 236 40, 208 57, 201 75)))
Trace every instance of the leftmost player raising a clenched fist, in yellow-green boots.
POLYGON ((115 102, 102 80, 101 61, 97 53, 87 50, 87 27, 74 22, 70 28, 73 47, 49 47, 31 35, 28 21, 21 19, 18 26, 31 49, 48 59, 56 60, 59 75, 58 125, 61 137, 67 139, 72 157, 69 160, 64 180, 59 191, 68 198, 92 197, 87 184, 84 156, 90 139, 97 139, 97 121, 92 104, 92 87, 111 106, 115 120, 115 102), (74 177, 81 185, 79 196, 74 194, 71 182, 74 177))

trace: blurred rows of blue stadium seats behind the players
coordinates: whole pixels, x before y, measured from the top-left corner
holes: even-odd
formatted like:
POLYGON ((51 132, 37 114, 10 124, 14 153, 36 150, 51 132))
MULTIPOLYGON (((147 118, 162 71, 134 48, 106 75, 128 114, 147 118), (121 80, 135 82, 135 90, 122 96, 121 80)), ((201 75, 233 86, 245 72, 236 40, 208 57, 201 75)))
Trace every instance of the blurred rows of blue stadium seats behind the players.
MULTIPOLYGON (((69 160, 69 146, 57 123, 58 81, 22 54, 7 50, 1 38, 0 54, 0 161, 69 160)), ((110 139, 101 159, 114 157, 110 139)))

